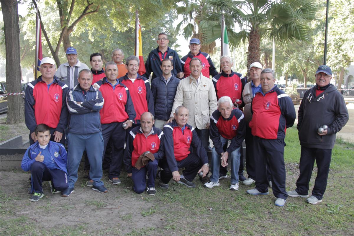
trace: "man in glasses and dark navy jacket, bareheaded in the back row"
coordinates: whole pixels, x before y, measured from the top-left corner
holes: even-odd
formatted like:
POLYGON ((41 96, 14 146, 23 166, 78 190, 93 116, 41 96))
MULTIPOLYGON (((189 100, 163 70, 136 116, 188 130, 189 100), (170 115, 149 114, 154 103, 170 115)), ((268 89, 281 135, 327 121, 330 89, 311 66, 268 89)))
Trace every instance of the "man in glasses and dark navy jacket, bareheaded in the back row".
POLYGON ((172 61, 173 70, 171 72, 176 76, 182 71, 182 65, 177 52, 168 46, 170 40, 167 38, 167 34, 160 33, 156 42, 159 46, 149 53, 145 62, 146 73, 143 76, 149 79, 150 74, 153 73, 151 81, 162 76, 161 62, 166 58, 172 61))

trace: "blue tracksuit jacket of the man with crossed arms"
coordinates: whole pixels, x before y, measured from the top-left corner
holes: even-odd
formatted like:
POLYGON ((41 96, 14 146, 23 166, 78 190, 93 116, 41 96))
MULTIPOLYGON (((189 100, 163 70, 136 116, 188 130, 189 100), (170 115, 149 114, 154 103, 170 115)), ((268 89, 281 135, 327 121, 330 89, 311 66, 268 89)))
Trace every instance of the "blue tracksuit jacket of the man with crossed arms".
POLYGON ((67 94, 67 107, 70 113, 69 132, 92 134, 101 131, 99 111, 104 99, 102 93, 93 86, 85 92, 80 84, 75 85, 67 94), (82 104, 77 104, 82 102, 82 104))

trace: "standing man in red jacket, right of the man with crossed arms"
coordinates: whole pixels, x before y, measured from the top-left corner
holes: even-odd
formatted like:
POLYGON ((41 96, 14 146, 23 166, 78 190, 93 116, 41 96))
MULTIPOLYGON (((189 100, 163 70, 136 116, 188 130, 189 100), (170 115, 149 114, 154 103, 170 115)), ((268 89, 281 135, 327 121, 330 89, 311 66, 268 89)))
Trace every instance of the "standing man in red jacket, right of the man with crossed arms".
POLYGON ((105 74, 106 77, 96 83, 104 98, 103 108, 99 112, 104 142, 103 155, 109 139, 112 139, 113 150, 108 177, 113 184, 120 184, 119 175, 124 154, 126 130, 132 126, 136 113, 130 90, 117 79, 117 64, 108 62, 105 65, 105 74), (123 128, 123 124, 127 126, 123 128))

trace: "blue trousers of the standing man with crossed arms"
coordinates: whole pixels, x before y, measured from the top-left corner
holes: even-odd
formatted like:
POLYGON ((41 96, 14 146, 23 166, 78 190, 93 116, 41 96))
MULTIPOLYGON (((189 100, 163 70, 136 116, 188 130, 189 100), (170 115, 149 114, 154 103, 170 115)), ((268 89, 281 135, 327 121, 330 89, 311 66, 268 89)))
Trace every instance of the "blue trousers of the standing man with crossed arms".
POLYGON ((90 162, 90 179, 93 185, 101 186, 102 178, 102 153, 103 137, 102 133, 92 134, 68 134, 68 175, 69 188, 73 189, 76 180, 78 180, 78 168, 81 162, 82 154, 86 150, 90 162))

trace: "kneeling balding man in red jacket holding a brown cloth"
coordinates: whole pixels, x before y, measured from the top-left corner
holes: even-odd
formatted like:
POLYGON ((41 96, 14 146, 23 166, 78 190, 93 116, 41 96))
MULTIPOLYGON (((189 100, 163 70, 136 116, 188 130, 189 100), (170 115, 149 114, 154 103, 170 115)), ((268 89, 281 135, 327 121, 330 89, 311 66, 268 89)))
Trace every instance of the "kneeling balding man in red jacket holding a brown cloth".
POLYGON ((153 114, 144 112, 140 125, 133 128, 126 140, 124 164, 128 176, 133 179, 134 191, 141 194, 145 189, 149 195, 155 195, 155 177, 158 161, 164 157, 164 133, 153 127, 153 114), (148 187, 146 188, 146 172, 148 187))

